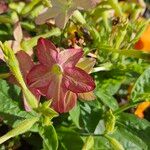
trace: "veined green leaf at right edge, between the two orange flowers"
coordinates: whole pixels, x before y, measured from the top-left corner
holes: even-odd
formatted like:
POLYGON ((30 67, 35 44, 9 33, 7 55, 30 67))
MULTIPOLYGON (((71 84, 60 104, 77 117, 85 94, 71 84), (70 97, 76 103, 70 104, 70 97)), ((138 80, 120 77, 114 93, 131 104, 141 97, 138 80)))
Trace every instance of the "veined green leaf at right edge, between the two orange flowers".
POLYGON ((132 91, 132 101, 150 99, 150 67, 147 68, 135 82, 132 91))

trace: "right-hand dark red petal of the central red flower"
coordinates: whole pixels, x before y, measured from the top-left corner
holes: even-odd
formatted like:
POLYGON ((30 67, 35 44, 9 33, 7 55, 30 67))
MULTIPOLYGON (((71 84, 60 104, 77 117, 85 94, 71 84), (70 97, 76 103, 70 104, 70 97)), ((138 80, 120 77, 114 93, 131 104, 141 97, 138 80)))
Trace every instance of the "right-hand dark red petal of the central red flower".
POLYGON ((95 88, 93 78, 77 67, 65 69, 63 84, 74 93, 90 92, 95 88))

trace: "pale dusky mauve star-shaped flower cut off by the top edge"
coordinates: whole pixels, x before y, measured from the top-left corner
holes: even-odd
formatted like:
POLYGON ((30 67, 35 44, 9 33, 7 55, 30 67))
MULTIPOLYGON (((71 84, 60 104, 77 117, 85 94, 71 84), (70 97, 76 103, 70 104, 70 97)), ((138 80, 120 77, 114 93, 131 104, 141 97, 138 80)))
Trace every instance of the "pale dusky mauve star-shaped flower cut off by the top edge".
POLYGON ((37 18, 37 24, 44 24, 47 20, 54 18, 55 24, 64 28, 70 16, 77 9, 89 9, 96 6, 100 0, 51 0, 52 8, 46 9, 37 18))

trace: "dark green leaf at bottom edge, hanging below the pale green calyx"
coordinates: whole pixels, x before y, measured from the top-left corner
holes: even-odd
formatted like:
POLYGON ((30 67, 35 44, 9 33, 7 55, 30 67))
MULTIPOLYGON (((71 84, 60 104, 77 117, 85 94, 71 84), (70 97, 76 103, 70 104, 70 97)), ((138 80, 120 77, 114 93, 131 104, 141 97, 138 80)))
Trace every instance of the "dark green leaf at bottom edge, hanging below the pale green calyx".
POLYGON ((57 150, 58 139, 57 133, 53 126, 41 126, 39 128, 39 134, 43 139, 44 150, 57 150))

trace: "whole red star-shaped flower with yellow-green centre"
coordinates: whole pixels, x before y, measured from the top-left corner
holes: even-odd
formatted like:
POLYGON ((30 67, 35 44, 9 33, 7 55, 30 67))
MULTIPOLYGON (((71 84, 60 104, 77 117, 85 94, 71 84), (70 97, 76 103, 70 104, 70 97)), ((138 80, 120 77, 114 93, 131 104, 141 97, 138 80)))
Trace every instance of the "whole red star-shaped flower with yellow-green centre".
POLYGON ((44 38, 38 40, 39 64, 28 74, 28 84, 52 99, 52 106, 57 112, 68 112, 76 104, 77 93, 95 88, 92 77, 75 66, 82 55, 81 49, 59 51, 50 41, 44 38))

